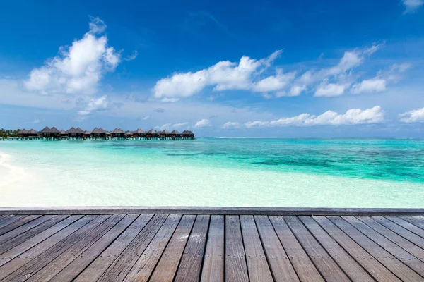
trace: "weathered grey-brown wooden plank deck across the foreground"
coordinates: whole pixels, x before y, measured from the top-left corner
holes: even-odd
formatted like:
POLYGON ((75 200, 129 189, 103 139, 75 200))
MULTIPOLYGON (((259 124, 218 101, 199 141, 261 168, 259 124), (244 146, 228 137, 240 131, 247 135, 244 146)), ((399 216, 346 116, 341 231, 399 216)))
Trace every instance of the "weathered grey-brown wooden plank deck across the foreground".
POLYGON ((73 211, 0 209, 0 281, 424 281, 406 210, 73 211))

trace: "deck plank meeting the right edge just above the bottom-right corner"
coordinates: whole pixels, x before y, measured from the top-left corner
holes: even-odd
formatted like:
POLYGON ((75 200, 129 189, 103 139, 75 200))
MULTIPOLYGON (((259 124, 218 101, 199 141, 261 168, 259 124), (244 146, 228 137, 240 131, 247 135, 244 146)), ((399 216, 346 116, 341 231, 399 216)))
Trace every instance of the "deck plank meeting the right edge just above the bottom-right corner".
POLYGON ((358 231, 360 231, 368 238, 373 240, 375 243, 383 247, 384 250, 390 252, 391 255, 394 255, 394 257, 400 259, 401 262, 411 267, 411 269, 420 274, 420 276, 424 277, 424 262, 421 262, 420 259, 417 259, 409 252, 406 252, 406 250, 399 247, 399 245, 396 245, 395 243, 391 242, 391 240, 385 238, 383 235, 370 228, 370 226, 367 226, 359 219, 356 219, 353 216, 343 216, 343 219, 348 221, 348 223, 351 223, 351 225, 358 229, 358 231))

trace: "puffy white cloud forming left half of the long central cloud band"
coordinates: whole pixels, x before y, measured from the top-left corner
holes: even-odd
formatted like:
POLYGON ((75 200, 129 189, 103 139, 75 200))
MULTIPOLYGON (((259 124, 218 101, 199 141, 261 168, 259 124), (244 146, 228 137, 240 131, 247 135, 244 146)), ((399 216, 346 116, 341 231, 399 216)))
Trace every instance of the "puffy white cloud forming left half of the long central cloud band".
POLYGON ((279 54, 281 50, 259 60, 242 56, 239 63, 220 61, 196 73, 174 73, 156 82, 153 96, 156 99, 190 97, 201 92, 204 87, 213 85, 216 91, 250 90, 254 87, 252 75, 269 68, 279 54))

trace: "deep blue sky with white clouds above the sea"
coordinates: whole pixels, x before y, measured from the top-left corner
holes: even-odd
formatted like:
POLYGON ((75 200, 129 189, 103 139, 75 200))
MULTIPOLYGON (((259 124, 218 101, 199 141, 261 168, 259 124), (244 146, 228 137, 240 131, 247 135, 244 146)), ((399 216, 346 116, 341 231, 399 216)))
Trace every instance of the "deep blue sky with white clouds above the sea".
POLYGON ((424 137, 424 1, 4 1, 0 127, 424 137))

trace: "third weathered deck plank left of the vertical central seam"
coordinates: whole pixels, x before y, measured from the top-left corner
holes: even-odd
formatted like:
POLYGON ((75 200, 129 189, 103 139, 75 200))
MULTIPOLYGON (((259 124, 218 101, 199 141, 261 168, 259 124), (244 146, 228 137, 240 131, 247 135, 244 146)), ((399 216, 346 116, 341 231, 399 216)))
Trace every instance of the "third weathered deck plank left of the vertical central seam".
POLYGON ((196 216, 193 214, 184 214, 182 216, 149 281, 170 282, 174 280, 179 260, 182 252, 184 252, 184 247, 187 244, 195 219, 196 216))

